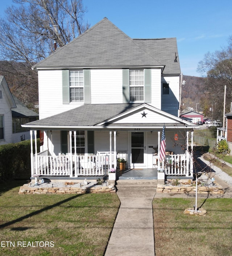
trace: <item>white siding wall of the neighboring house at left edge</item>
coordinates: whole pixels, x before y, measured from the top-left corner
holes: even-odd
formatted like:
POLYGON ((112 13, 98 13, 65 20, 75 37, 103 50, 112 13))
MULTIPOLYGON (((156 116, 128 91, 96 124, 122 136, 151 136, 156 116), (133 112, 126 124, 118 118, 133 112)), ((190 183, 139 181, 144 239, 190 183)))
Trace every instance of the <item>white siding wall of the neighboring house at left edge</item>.
POLYGON ((0 99, 0 115, 3 115, 4 139, 0 140, 0 145, 12 143, 12 117, 11 104, 2 85, 0 85, 2 98, 0 99))

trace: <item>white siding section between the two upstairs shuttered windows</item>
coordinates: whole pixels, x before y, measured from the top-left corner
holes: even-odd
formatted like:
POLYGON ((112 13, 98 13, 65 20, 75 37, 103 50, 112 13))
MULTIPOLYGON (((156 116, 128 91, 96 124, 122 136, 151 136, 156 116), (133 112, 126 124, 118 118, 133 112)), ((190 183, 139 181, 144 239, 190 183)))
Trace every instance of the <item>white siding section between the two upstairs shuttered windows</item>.
POLYGON ((91 103, 123 103, 121 69, 91 70, 91 103))

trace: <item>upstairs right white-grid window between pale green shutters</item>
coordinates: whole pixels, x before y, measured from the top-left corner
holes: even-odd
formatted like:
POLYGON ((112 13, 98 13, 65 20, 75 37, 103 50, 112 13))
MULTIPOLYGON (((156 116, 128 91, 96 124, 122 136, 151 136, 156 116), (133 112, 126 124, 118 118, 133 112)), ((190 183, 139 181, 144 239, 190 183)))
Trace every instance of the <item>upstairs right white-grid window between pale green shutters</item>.
POLYGON ((130 102, 144 101, 144 70, 130 70, 130 102))

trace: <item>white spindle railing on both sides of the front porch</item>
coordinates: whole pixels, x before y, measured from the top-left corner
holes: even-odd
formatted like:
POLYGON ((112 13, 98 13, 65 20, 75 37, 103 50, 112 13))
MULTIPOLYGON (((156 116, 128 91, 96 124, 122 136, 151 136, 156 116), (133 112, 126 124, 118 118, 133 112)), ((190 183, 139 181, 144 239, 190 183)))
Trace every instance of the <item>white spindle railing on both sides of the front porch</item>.
MULTIPOLYGON (((125 157, 126 158, 126 157, 125 157)), ((116 168, 115 157, 112 154, 97 154, 91 156, 59 155, 48 156, 45 150, 33 156, 32 176, 105 176, 108 170, 116 168), (36 157, 37 156, 37 157, 36 157), (112 161, 111 161, 112 158, 112 161)), ((190 153, 174 154, 166 156, 166 165, 162 162, 162 168, 167 175, 192 176, 192 159, 190 153)))

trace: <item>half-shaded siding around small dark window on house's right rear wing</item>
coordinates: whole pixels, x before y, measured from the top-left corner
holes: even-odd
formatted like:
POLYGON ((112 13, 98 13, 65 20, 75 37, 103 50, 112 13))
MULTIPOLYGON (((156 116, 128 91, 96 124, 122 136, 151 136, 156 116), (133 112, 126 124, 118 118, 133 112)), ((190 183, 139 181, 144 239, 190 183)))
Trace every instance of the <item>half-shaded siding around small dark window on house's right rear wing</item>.
POLYGON ((162 95, 161 91, 161 110, 171 115, 178 116, 179 109, 179 77, 162 77, 162 83, 169 83, 169 95, 162 95))

